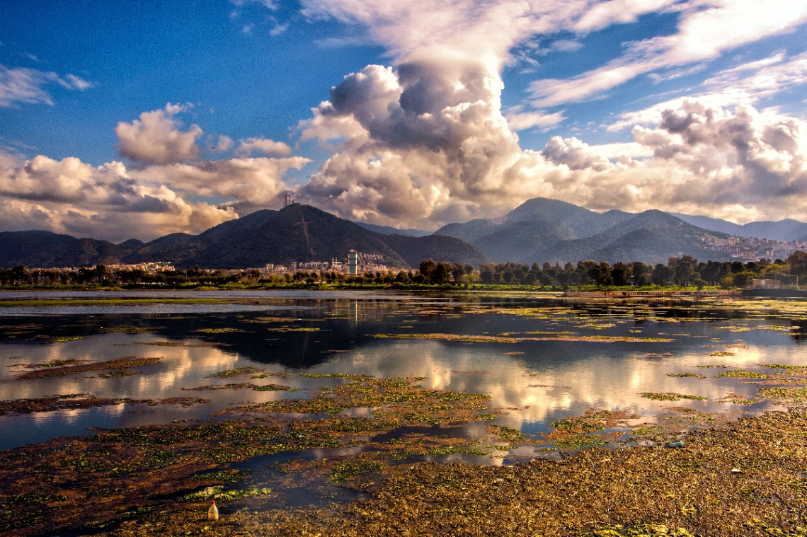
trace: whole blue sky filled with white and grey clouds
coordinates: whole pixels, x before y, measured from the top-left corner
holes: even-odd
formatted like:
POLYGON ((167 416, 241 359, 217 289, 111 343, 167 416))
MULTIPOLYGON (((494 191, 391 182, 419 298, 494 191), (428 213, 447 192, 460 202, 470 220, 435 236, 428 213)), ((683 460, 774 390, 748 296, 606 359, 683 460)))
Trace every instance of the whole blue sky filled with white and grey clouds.
POLYGON ((530 198, 807 222, 807 0, 0 2, 0 231, 286 194, 433 231, 530 198))

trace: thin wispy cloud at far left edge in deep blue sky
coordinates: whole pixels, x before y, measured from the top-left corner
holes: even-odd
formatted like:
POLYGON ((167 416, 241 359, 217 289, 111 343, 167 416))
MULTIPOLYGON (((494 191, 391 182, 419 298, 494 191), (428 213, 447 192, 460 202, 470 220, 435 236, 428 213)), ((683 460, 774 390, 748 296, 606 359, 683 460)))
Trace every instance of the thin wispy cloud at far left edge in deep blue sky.
POLYGON ((24 67, 8 68, 0 65, 0 106, 15 106, 15 103, 26 102, 36 104, 44 102, 52 105, 53 98, 46 86, 57 84, 65 90, 88 90, 94 86, 92 82, 68 74, 60 77, 53 72, 44 72, 24 67))

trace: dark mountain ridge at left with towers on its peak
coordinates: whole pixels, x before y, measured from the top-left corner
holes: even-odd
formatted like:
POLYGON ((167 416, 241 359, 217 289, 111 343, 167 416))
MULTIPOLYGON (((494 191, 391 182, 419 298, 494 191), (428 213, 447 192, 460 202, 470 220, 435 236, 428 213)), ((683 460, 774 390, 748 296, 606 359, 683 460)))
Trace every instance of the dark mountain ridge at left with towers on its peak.
POLYGON ((348 250, 383 256, 395 268, 435 260, 479 264, 489 261, 479 249, 452 237, 381 235, 312 206, 259 210, 221 223, 199 235, 173 233, 148 243, 121 244, 75 239, 49 231, 0 233, 0 264, 75 267, 171 261, 174 266, 247 269, 266 264, 343 259, 348 250))

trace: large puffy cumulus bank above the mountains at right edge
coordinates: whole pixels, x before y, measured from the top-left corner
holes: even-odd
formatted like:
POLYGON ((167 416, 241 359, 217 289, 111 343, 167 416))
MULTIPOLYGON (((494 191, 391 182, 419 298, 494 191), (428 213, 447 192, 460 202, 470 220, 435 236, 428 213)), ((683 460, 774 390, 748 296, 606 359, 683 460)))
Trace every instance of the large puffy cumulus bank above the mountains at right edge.
POLYGON ((593 209, 674 210, 734 222, 807 219, 807 123, 751 106, 685 101, 659 124, 609 146, 555 137, 541 156, 558 166, 553 195, 593 209), (619 148, 618 148, 619 149, 619 148), (652 158, 641 158, 652 152, 652 158), (615 161, 607 160, 615 159, 615 161))

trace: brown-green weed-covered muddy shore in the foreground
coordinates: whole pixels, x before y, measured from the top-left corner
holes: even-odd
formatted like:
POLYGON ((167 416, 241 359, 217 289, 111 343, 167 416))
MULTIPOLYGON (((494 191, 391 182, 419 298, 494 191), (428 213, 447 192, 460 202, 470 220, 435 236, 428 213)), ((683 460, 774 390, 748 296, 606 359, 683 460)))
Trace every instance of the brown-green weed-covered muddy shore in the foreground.
POLYGON ((556 423, 544 438, 487 426, 490 441, 480 444, 440 431, 492 418, 485 398, 424 389, 419 380, 353 377, 310 399, 233 409, 219 421, 99 431, 0 452, 2 530, 19 537, 807 535, 803 407, 685 434, 675 425, 633 431, 637 441, 654 439, 651 447, 614 449, 604 440, 608 448, 597 447, 592 439, 609 438, 606 430, 631 418, 604 410, 556 423), (366 418, 344 414, 382 407, 366 418), (299 418, 306 414, 319 417, 299 418), (555 452, 560 460, 417 462, 547 440, 567 442, 555 452), (332 455, 303 457, 311 450, 332 455), (274 454, 282 458, 268 462, 274 454), (250 472, 255 461, 261 479, 250 472), (218 522, 207 521, 210 499, 219 502, 218 522))

